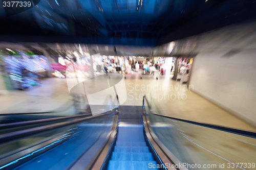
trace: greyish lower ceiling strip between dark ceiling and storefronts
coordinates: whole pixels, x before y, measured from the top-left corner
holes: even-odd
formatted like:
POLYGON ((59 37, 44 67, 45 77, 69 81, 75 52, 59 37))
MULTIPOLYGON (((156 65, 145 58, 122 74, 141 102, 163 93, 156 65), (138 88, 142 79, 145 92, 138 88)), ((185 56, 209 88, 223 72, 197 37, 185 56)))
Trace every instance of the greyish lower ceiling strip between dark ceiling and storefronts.
POLYGON ((195 57, 199 53, 223 53, 230 57, 241 51, 255 51, 256 19, 241 24, 211 30, 158 46, 79 44, 79 43, 10 43, 0 42, 0 48, 46 52, 54 55, 72 54, 74 51, 91 55, 195 57))

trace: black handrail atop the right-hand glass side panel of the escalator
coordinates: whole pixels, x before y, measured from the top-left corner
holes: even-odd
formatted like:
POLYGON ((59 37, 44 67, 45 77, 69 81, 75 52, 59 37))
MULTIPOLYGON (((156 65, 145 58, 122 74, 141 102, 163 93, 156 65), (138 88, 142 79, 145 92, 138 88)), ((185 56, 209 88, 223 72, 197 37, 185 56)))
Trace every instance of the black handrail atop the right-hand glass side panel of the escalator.
POLYGON ((221 125, 215 125, 215 124, 208 124, 208 123, 202 123, 202 122, 196 122, 193 120, 188 120, 188 119, 183 119, 183 118, 177 118, 177 117, 172 117, 172 116, 166 116, 166 115, 162 115, 162 114, 158 114, 155 113, 152 109, 150 104, 148 103, 148 100, 146 99, 146 96, 143 96, 143 113, 144 113, 144 102, 147 102, 148 107, 150 107, 151 113, 157 116, 161 116, 161 117, 166 117, 166 118, 170 118, 170 119, 175 119, 175 120, 179 120, 185 123, 190 123, 190 124, 195 124, 198 126, 203 126, 203 127, 207 127, 207 128, 215 128, 218 130, 224 130, 224 131, 230 131, 232 133, 240 133, 243 135, 249 135, 249 136, 256 136, 256 132, 255 131, 249 131, 249 130, 243 130, 243 129, 237 129, 237 128, 231 128, 231 127, 226 127, 226 126, 221 126, 221 125))

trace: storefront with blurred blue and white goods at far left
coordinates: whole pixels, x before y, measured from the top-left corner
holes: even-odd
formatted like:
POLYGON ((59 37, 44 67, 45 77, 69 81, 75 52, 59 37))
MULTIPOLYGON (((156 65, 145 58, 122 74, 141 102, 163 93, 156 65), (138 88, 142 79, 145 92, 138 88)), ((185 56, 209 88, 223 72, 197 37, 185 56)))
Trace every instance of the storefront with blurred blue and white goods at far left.
MULTIPOLYGON (((10 82, 13 89, 26 89, 39 84, 44 73, 49 70, 48 61, 42 54, 31 51, 2 49, 4 63, 5 83, 10 82)), ((47 75, 47 74, 45 74, 47 75)))

